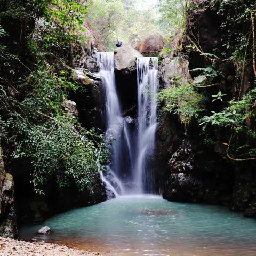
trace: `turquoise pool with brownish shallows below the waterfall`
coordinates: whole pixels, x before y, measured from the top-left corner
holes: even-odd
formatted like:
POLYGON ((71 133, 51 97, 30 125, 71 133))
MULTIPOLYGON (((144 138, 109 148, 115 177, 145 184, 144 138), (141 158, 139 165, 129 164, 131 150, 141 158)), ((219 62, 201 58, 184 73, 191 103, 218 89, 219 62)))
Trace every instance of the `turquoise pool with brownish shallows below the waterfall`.
POLYGON ((157 196, 120 197, 71 210, 43 225, 21 228, 20 237, 41 236, 102 255, 255 256, 256 221, 217 206, 172 203, 157 196))

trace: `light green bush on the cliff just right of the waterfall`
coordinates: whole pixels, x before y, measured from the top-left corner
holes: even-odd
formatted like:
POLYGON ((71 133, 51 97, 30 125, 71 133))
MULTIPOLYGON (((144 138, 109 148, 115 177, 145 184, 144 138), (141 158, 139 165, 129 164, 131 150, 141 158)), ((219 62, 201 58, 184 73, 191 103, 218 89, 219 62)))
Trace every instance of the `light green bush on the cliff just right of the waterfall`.
POLYGON ((164 111, 180 115, 182 122, 189 124, 192 118, 198 118, 202 112, 203 96, 182 77, 176 77, 175 84, 178 86, 162 89, 158 93, 158 100, 165 102, 164 111))

